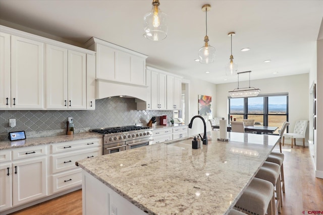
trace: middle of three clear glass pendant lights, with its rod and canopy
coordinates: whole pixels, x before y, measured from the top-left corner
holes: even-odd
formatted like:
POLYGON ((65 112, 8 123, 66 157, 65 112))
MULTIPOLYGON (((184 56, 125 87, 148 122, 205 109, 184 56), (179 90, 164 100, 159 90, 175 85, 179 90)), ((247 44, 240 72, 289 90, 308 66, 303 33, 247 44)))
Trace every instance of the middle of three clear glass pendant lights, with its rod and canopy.
POLYGON ((208 44, 208 36, 207 36, 207 11, 211 10, 210 5, 203 5, 202 11, 205 12, 205 26, 206 33, 204 37, 204 46, 198 50, 198 56, 200 59, 200 63, 212 63, 214 62, 214 55, 216 53, 216 49, 208 44))

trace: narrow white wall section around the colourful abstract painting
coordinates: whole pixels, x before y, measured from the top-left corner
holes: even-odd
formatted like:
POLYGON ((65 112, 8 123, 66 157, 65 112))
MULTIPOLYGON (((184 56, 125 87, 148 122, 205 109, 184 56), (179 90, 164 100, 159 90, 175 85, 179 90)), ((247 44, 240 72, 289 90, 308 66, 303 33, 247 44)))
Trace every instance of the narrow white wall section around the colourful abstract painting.
MULTIPOLYGON (((198 115, 198 95, 205 95, 212 97, 212 116, 213 118, 216 112, 216 85, 205 82, 202 80, 197 80, 193 78, 188 78, 189 80, 189 121, 185 121, 185 124, 189 124, 193 116, 198 115)), ((187 111, 187 110, 185 110, 187 111)), ((206 123, 206 130, 211 130, 210 123, 208 122, 208 116, 203 116, 206 123)), ((193 126, 188 129, 188 135, 192 136, 198 133, 203 133, 203 122, 201 119, 196 118, 193 121, 193 126)))

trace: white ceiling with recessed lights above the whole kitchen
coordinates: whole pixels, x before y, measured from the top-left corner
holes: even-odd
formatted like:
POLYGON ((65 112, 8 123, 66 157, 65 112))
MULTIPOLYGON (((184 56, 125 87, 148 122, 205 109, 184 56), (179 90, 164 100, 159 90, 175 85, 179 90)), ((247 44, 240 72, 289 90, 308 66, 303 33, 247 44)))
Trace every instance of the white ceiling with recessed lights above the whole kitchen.
MULTIPOLYGON (((162 41, 142 36, 143 16, 151 10, 151 2, 0 0, 0 24, 21 25, 80 44, 96 37, 148 55, 147 65, 214 84, 237 81, 224 71, 230 57, 227 34, 234 31, 232 51, 238 71, 252 70, 251 80, 309 72, 323 1, 160 0, 169 26, 162 41), (207 35, 216 48, 214 63, 207 65, 194 61, 204 43, 204 4, 212 7, 207 13, 207 35), (251 50, 241 52, 245 47, 251 50), (267 59, 272 61, 264 63, 267 59)), ((248 80, 248 76, 239 78, 248 80)))

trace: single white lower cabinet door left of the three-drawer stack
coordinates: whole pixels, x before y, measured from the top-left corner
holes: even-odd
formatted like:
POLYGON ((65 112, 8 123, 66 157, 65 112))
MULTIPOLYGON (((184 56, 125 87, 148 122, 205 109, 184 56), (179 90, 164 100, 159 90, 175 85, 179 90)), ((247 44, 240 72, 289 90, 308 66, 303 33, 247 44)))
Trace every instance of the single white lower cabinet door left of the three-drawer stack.
POLYGON ((13 162, 13 205, 47 195, 46 157, 13 162))

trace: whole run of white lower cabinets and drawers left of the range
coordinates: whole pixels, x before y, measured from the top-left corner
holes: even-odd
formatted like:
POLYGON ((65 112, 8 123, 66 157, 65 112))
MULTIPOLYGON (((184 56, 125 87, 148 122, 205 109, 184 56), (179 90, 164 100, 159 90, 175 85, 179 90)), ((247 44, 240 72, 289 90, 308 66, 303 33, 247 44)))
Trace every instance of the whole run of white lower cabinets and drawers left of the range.
POLYGON ((77 188, 82 172, 75 162, 100 155, 102 138, 0 150, 0 214, 77 188))

